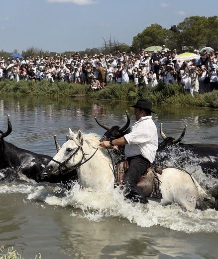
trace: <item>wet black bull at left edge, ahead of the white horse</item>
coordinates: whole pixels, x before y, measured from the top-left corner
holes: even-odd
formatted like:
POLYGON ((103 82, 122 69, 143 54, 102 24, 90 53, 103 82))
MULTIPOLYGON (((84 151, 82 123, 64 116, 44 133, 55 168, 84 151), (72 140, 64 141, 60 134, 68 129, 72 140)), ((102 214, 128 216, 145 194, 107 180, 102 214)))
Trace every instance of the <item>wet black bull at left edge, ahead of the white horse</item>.
POLYGON ((12 131, 9 115, 7 116, 7 131, 0 131, 0 172, 4 174, 4 179, 12 180, 19 171, 37 182, 67 183, 72 179, 72 175, 48 176, 44 177, 48 163, 52 157, 18 148, 11 143, 4 141, 12 131))

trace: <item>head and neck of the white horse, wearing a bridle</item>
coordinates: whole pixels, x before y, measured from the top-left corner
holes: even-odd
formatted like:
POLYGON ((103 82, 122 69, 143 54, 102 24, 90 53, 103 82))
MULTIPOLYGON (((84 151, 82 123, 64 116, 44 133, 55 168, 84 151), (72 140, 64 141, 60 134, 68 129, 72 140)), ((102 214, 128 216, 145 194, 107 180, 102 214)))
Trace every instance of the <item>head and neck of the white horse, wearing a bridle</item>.
POLYGON ((113 187, 113 171, 107 151, 99 147, 100 136, 84 135, 69 129, 69 140, 63 144, 53 161, 48 164, 49 174, 58 175, 77 169, 82 186, 95 190, 113 187))

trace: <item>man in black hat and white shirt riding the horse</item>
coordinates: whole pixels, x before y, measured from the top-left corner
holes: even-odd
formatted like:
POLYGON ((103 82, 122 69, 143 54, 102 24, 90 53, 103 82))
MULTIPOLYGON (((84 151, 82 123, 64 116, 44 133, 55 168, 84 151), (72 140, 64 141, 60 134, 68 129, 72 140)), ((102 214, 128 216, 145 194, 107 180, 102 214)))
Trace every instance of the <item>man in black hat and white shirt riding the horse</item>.
POLYGON ((152 104, 148 100, 138 100, 135 105, 136 122, 130 133, 123 137, 103 141, 100 146, 108 148, 112 146, 124 146, 129 168, 125 174, 125 197, 133 202, 147 203, 141 189, 137 186, 138 180, 154 162, 158 148, 157 127, 152 120, 152 104))

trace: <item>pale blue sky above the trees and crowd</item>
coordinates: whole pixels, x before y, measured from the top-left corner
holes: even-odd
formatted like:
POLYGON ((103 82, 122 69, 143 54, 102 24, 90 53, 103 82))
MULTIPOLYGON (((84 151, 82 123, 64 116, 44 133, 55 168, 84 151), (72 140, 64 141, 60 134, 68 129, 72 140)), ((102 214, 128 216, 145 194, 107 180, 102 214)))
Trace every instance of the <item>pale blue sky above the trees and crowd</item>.
POLYGON ((101 47, 103 37, 132 44, 147 26, 218 15, 218 0, 0 0, 0 50, 49 52, 101 47))

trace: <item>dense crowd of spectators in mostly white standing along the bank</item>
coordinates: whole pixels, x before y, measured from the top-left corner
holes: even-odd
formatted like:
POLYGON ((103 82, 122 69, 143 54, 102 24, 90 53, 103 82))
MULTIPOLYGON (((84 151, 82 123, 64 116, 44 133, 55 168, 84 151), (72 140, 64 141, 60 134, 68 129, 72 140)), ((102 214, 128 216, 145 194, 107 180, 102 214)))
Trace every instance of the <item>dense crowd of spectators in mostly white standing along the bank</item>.
POLYGON ((0 58, 0 80, 49 80, 89 84, 100 90, 110 83, 129 83, 135 87, 154 87, 158 82, 178 82, 192 95, 218 90, 218 51, 194 50, 199 58, 180 61, 177 50, 162 46, 161 51, 114 55, 29 56, 25 59, 0 58))

